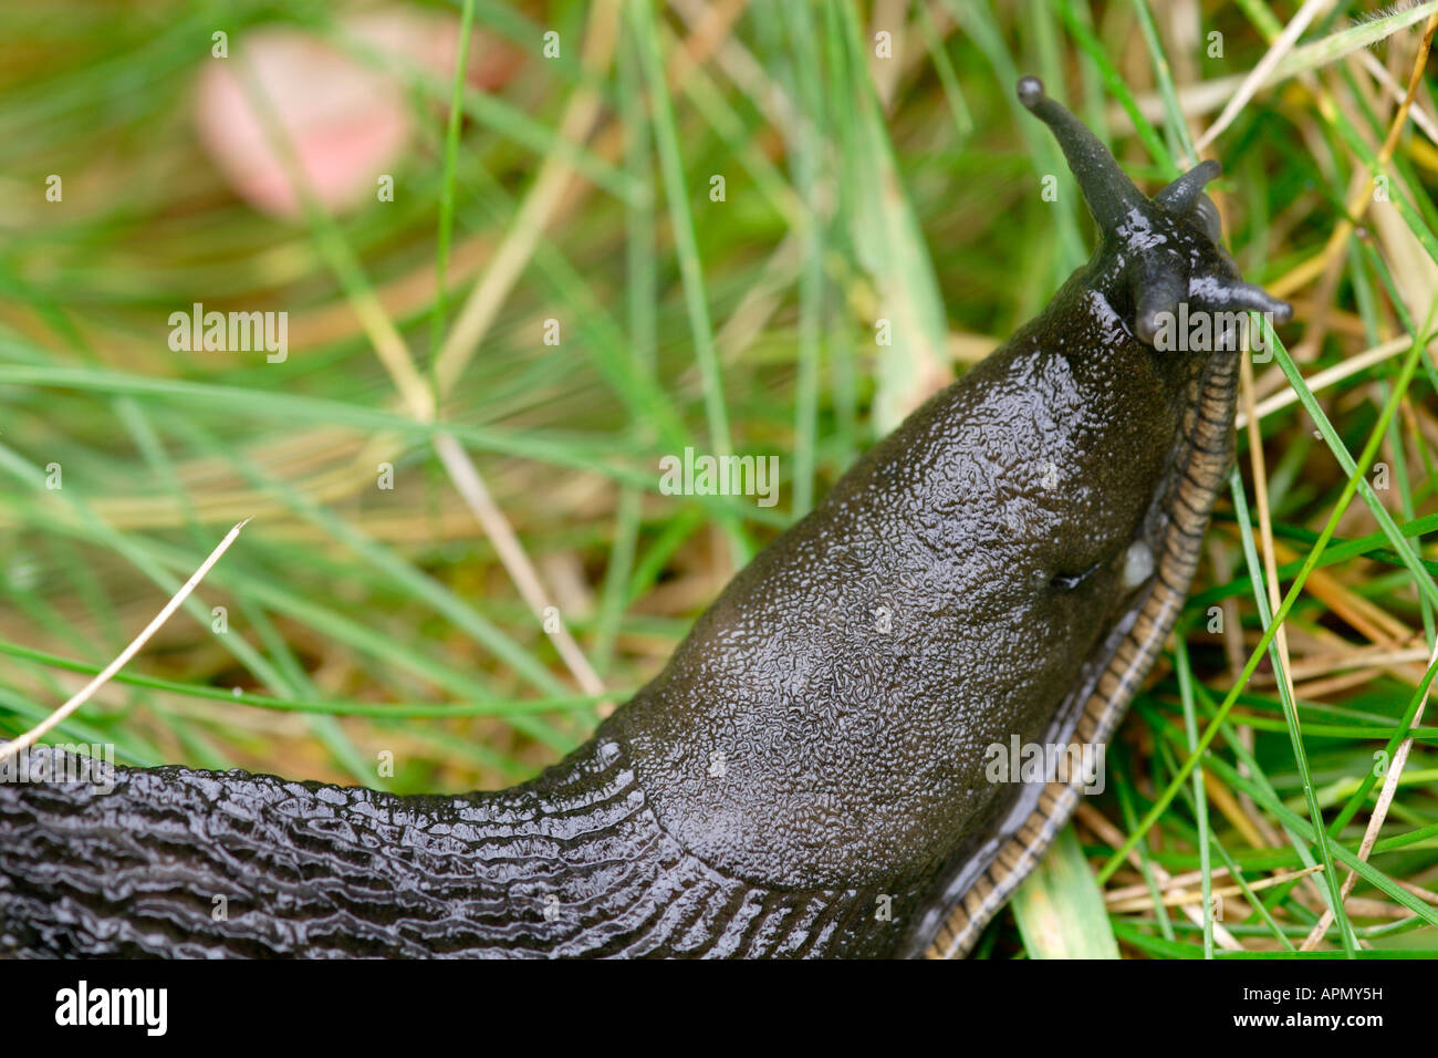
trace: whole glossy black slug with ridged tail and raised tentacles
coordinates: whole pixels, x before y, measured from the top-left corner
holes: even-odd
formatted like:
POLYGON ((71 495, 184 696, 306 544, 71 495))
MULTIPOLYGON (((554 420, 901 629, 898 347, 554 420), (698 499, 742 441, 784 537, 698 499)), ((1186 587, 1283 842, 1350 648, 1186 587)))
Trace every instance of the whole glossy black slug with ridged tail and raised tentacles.
MULTIPOLYGON (((594 737, 498 793, 242 772, 0 786, 0 953, 953 956, 1173 626, 1232 459, 1238 354, 1168 318, 1288 307, 1025 78, 1102 239, 1050 305, 741 571, 594 737), (1166 343, 1159 343, 1166 344, 1166 343)), ((33 761, 32 761, 33 763, 33 761)))

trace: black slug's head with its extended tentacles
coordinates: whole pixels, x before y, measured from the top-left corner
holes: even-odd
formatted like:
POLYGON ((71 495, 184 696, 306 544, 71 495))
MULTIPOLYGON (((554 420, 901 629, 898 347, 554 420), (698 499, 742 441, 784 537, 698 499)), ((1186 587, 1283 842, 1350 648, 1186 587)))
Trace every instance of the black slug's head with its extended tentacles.
POLYGON ((1204 194, 1217 161, 1202 161, 1152 199, 1119 168, 1083 122, 1044 94, 1038 78, 1021 78, 1018 99, 1053 131, 1089 212, 1103 233, 1100 271, 1109 273, 1114 308, 1148 345, 1181 302, 1208 312, 1255 311, 1287 322, 1293 308, 1238 275, 1219 246, 1218 209, 1204 194), (1123 312, 1123 308, 1130 309, 1123 312))

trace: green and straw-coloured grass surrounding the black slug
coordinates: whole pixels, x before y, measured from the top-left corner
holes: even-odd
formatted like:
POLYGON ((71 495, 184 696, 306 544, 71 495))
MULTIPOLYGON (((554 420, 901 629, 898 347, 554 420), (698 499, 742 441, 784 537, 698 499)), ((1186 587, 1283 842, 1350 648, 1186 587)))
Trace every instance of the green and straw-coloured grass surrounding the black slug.
MULTIPOLYGON (((715 24, 650 0, 423 6, 472 20, 480 58, 512 49, 505 83, 406 65, 416 138, 395 200, 341 217, 311 204, 293 223, 255 213, 201 153, 193 85, 214 30, 237 49, 275 22, 383 62, 335 6, 0 14, 0 736, 102 668, 256 515, 60 740, 398 792, 533 774, 1087 258, 1093 225, 1014 99, 1018 73, 1044 76, 1153 190, 1227 98, 1195 96, 1241 83, 1299 7, 1202 3, 1183 27, 1146 0, 925 0, 884 24, 843 0, 709 4, 733 16, 715 24), (558 58, 541 56, 546 30, 558 58), (49 174, 62 203, 45 200, 49 174), (170 351, 165 320, 193 301, 288 311, 289 360, 170 351), (516 590, 443 436, 604 695, 516 590), (686 445, 778 455, 779 507, 661 495, 657 461, 686 445)), ((1257 396, 1296 400, 1263 417, 1261 452, 1238 433, 1179 632, 1087 802, 1104 823, 1073 825, 984 954, 1291 957, 1324 910, 1310 957, 1438 951, 1438 707, 1415 720, 1438 610, 1438 145, 1409 119, 1382 154, 1395 101, 1373 71, 1406 86, 1428 13, 1350 20, 1363 10, 1320 16, 1211 148, 1245 276, 1299 305, 1254 364, 1257 396), (1369 173, 1386 199, 1355 197, 1369 173), (1360 230, 1329 246, 1346 219, 1360 230), (1408 343, 1309 387, 1393 338, 1408 343), (1406 659, 1345 664, 1375 642, 1406 659), (1409 736, 1363 859, 1375 761, 1409 736), (1188 872, 1188 905, 1165 903, 1188 872), (1133 887, 1140 910, 1104 904, 1133 887), (1202 914, 1217 891, 1221 918, 1202 914)), ((1425 79, 1416 107, 1434 115, 1434 96, 1425 79)))

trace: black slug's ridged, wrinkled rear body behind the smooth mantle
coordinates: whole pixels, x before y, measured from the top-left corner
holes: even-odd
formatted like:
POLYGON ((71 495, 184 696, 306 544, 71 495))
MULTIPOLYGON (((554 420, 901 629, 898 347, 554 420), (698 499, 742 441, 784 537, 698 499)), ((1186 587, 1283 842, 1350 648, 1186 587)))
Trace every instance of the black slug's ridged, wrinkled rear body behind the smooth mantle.
POLYGON ((0 783, 0 959, 881 956, 876 895, 709 868, 607 738, 454 796, 183 767, 0 783))

